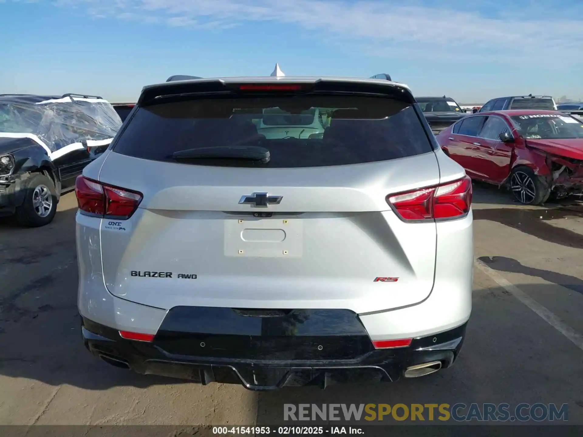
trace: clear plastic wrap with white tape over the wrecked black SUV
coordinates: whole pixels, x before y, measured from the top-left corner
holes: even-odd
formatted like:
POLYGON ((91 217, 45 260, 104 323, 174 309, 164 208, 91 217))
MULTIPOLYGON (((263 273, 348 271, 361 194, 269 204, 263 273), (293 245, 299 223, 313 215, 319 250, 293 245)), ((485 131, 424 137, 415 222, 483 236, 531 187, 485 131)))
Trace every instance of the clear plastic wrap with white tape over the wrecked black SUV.
POLYGON ((101 98, 0 96, 0 136, 32 138, 51 158, 107 145, 120 127, 120 116, 101 98))

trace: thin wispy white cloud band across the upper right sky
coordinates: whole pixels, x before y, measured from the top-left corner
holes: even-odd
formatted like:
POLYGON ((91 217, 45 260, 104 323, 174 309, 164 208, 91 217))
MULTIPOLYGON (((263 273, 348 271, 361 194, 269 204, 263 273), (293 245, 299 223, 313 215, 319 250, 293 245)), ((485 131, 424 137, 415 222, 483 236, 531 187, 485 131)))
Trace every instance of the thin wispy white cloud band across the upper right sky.
POLYGON ((583 6, 575 4, 568 9, 558 1, 556 5, 523 1, 514 6, 508 1, 473 1, 466 2, 463 9, 452 1, 428 6, 427 2, 414 0, 56 0, 55 3, 86 8, 95 17, 131 17, 199 29, 226 29, 254 22, 289 24, 319 36, 333 37, 338 45, 357 47, 377 57, 457 62, 514 59, 532 62, 536 68, 545 68, 550 63, 565 66, 583 62, 583 20, 573 19, 583 16, 583 6))

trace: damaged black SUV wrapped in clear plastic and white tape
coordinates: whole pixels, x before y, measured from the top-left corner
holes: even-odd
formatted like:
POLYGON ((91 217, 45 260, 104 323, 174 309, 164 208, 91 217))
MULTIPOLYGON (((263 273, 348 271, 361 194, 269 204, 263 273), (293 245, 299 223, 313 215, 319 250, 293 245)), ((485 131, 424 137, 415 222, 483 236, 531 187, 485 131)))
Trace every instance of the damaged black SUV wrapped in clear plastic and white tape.
POLYGON ((107 150, 120 116, 97 96, 0 95, 0 216, 38 227, 63 191, 107 150))

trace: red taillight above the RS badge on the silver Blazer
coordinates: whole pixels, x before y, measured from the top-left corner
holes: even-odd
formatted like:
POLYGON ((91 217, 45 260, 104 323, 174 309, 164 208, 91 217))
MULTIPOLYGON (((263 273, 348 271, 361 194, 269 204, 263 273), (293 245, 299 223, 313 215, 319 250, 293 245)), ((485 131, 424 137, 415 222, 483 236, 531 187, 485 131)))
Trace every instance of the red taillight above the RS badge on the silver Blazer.
POLYGON ((465 176, 446 184, 389 194, 387 203, 405 221, 443 220, 465 216, 472 205, 472 179, 465 176))

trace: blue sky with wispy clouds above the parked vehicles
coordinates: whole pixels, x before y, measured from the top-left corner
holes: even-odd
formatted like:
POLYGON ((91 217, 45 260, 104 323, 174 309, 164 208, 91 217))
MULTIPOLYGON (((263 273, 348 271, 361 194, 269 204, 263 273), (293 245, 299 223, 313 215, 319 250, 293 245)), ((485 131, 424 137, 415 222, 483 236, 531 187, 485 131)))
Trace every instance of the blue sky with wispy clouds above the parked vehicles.
POLYGON ((133 101, 174 74, 368 77, 583 98, 581 0, 0 0, 0 93, 133 101))

